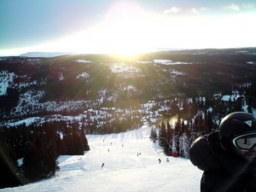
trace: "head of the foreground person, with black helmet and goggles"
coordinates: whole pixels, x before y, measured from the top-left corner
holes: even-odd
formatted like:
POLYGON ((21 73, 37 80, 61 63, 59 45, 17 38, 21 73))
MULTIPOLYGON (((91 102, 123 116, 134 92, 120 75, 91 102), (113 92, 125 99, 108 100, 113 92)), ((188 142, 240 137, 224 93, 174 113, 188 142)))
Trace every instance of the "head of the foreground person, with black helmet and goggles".
POLYGON ((230 113, 221 120, 219 135, 226 150, 245 158, 256 155, 256 120, 251 113, 230 113))

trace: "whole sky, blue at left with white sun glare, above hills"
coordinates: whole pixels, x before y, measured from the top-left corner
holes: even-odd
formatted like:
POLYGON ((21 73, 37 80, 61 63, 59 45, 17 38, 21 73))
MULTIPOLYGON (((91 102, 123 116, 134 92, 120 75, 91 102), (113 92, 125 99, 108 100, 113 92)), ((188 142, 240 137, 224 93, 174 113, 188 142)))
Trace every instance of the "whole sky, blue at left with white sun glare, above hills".
POLYGON ((248 46, 255 0, 0 0, 0 55, 248 46))

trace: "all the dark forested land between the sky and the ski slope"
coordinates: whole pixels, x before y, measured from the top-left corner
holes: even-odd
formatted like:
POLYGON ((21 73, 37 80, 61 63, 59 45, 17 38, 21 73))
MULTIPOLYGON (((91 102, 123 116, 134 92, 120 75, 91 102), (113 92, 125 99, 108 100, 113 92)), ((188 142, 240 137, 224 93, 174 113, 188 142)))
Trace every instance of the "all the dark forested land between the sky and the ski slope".
POLYGON ((0 142, 20 177, 28 180, 22 183, 54 175, 60 154, 89 150, 85 134, 143 124, 152 127, 152 139, 160 139, 166 154, 189 158, 195 138, 218 130, 227 113, 255 115, 255 74, 253 48, 162 51, 132 58, 0 57, 0 142), (40 154, 44 164, 35 164, 39 171, 33 175, 29 162, 37 160, 29 157, 38 156, 37 148, 45 152, 40 154), (52 155, 46 158, 49 148, 52 155), (22 166, 16 165, 20 158, 22 166))

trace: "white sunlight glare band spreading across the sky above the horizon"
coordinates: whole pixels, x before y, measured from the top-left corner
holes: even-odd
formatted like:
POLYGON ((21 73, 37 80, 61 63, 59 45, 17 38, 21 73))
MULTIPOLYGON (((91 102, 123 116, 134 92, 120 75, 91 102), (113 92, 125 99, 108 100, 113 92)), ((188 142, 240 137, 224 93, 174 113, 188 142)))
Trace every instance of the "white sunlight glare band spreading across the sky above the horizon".
MULTIPOLYGON (((229 48, 255 45, 253 15, 166 15, 144 11, 138 3, 113 3, 102 21, 55 42, 26 49, 46 52, 132 56, 159 49, 229 48)), ((22 52, 21 52, 22 51, 22 52)))

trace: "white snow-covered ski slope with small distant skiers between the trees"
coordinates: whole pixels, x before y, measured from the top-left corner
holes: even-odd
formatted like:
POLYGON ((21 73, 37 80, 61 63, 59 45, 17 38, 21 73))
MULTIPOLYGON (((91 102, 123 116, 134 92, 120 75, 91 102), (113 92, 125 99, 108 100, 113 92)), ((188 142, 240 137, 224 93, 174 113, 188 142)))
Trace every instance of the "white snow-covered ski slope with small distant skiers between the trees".
POLYGON ((182 158, 166 162, 149 134, 144 125, 125 133, 88 135, 90 151, 61 156, 55 177, 0 191, 199 192, 202 172, 182 158))

